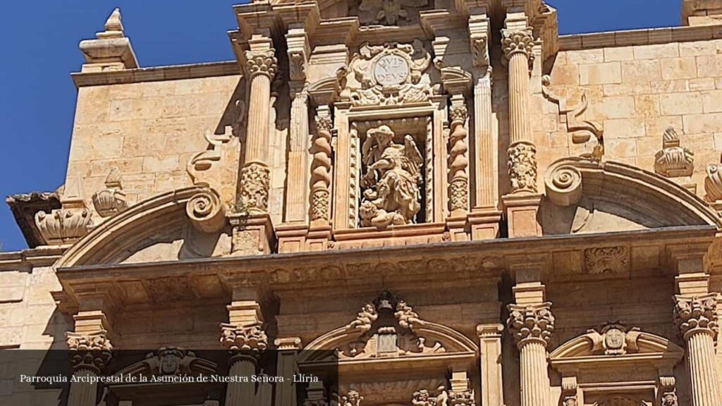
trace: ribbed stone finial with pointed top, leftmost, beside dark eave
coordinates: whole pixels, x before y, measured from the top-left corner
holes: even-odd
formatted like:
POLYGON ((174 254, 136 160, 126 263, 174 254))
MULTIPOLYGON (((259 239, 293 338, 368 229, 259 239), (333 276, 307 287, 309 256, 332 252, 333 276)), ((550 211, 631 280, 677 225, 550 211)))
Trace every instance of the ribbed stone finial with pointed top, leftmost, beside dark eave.
POLYGON ((82 198, 82 178, 66 183, 61 209, 35 213, 35 225, 48 245, 74 243, 88 233, 92 213, 82 198))

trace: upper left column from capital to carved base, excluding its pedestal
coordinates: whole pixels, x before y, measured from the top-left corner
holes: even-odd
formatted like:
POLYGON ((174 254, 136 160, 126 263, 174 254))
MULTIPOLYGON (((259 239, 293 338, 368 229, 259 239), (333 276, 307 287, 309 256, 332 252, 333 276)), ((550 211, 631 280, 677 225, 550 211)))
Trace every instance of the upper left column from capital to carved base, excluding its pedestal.
POLYGON ((275 50, 271 45, 268 38, 255 39, 251 50, 245 51, 251 95, 248 103, 245 163, 240 169, 239 196, 251 214, 265 213, 269 208, 269 100, 271 79, 277 69, 275 50))

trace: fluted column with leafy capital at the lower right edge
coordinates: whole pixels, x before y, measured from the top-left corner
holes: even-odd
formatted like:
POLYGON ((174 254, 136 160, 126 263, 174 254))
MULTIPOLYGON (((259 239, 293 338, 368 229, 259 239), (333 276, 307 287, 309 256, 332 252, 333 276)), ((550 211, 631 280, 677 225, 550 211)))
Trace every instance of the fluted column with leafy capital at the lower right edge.
POLYGON ((717 298, 717 293, 674 297, 674 321, 687 345, 692 406, 722 405, 715 358, 717 298))

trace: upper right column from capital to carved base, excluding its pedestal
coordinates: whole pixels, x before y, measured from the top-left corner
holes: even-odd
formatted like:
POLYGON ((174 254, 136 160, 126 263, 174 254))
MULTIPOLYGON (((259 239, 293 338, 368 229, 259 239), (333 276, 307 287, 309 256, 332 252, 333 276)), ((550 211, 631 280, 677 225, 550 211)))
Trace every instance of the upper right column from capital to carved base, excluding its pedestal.
POLYGON ((536 147, 529 117, 529 64, 533 58, 531 28, 502 31, 504 57, 509 66, 509 178, 511 193, 536 193, 536 147))

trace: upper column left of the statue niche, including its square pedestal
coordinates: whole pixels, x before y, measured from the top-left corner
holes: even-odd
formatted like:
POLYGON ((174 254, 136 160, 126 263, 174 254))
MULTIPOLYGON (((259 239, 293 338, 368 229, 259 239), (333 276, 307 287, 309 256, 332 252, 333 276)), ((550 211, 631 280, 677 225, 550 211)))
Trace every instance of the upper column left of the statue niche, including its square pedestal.
POLYGON ((271 80, 277 70, 275 49, 270 38, 253 35, 245 51, 250 85, 245 162, 238 175, 238 199, 245 213, 229 216, 233 226, 231 250, 234 255, 269 254, 274 245, 274 228, 269 215, 269 117, 271 80))

